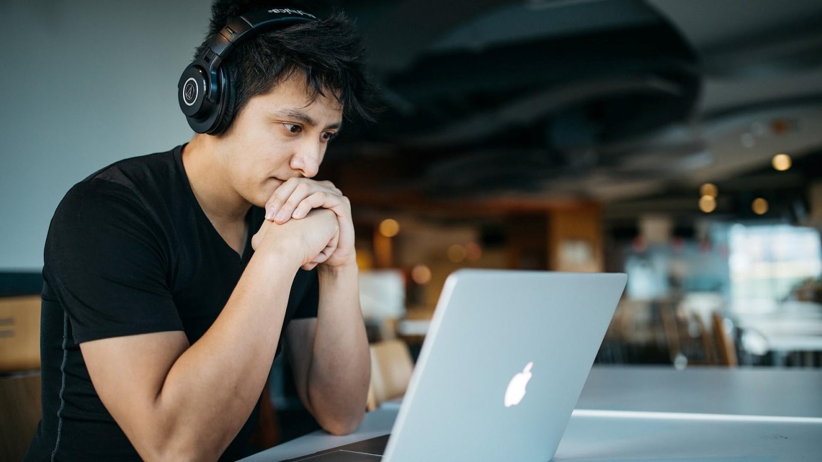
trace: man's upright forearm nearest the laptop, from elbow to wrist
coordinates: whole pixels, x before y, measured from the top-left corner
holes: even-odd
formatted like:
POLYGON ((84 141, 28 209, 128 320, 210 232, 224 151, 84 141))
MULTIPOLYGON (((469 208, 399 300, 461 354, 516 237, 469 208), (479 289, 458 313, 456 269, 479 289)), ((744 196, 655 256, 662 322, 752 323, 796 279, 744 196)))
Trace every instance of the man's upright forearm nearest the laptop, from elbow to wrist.
POLYGON ((335 434, 363 419, 371 357, 359 305, 357 266, 319 267, 320 299, 308 397, 317 421, 335 434))

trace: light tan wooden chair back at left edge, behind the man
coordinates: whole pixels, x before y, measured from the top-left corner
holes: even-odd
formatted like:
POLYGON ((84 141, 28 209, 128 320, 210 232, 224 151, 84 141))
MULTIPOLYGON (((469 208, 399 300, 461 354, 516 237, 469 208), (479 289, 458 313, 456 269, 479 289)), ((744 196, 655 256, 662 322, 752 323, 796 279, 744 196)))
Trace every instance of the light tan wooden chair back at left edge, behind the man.
POLYGON ((39 368, 39 295, 0 298, 0 374, 39 368))

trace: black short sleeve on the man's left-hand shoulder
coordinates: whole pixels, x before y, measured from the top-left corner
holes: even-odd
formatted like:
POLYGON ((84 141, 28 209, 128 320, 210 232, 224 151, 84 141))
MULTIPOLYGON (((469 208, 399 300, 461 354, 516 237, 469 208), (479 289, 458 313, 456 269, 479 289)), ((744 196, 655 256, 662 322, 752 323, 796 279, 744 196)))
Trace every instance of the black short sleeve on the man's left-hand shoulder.
POLYGON ((43 272, 77 344, 182 330, 163 236, 136 193, 117 182, 87 180, 63 198, 48 229, 43 272))

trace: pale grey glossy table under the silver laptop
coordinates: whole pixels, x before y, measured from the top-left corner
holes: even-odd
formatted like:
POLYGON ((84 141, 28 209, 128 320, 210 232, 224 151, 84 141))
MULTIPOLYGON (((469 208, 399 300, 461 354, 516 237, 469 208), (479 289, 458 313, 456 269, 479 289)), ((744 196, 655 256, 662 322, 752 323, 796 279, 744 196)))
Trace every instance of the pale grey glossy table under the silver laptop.
MULTIPOLYGON (((593 367, 554 460, 820 460, 822 371, 593 367)), ((390 432, 399 406, 345 437, 314 432, 244 459, 286 460, 390 432)))

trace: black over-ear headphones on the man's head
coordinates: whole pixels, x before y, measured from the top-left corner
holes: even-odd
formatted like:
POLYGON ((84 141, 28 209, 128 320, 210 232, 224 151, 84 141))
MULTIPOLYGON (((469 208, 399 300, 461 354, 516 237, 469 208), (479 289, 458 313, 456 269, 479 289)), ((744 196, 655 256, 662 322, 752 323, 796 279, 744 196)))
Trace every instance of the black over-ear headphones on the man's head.
POLYGON ((275 8, 247 12, 229 21, 209 41, 205 53, 195 58, 180 76, 177 99, 188 125, 197 133, 216 135, 231 124, 234 87, 229 72, 220 64, 238 43, 262 32, 316 19, 301 10, 275 8))

